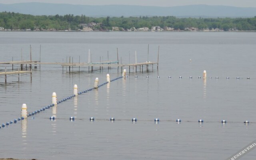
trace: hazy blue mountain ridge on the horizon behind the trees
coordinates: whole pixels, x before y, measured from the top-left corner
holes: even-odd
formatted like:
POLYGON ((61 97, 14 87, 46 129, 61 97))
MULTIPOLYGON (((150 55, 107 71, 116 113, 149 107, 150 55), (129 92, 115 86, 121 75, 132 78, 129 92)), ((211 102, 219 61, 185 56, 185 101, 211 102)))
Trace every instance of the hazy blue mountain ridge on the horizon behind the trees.
POLYGON ((52 3, 16 3, 0 4, 0 12, 19 12, 32 15, 86 15, 90 17, 106 16, 177 16, 177 17, 254 17, 256 8, 233 6, 188 5, 173 7, 130 6, 130 5, 73 5, 52 3))

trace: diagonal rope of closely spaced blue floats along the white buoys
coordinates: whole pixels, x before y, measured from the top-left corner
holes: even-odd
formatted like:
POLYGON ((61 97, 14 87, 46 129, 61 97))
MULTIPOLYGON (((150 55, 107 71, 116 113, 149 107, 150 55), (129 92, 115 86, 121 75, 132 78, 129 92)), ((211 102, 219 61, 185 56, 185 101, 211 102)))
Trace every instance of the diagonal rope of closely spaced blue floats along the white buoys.
MULTIPOLYGON (((115 80, 118 80, 118 79, 120 79, 120 78, 123 78, 123 76, 114 78, 114 79, 110 80, 110 82, 115 81, 115 80)), ((108 82, 104 82, 104 83, 98 85, 97 88, 99 88, 99 87, 101 87, 101 86, 103 86, 103 85, 105 85, 105 84, 107 84, 107 83, 108 83, 108 82)), ((78 92, 78 95, 79 95, 79 94, 82 94, 82 93, 86 93, 86 92, 91 91, 91 90, 93 90, 93 89, 95 89, 95 87, 94 87, 94 88, 89 88, 88 90, 84 90, 84 91, 82 91, 82 92, 78 92)), ((59 100, 59 101, 57 101, 57 104, 59 104, 59 103, 61 103, 61 102, 65 102, 66 100, 69 100, 69 99, 71 99, 71 98, 74 97, 74 96, 76 96, 76 95, 73 94, 72 96, 68 96, 67 98, 64 98, 64 99, 62 99, 62 100, 59 100)), ((53 106, 54 106, 54 104, 50 104, 50 105, 45 106, 45 107, 43 107, 43 108, 41 108, 41 109, 39 109, 39 110, 36 110, 36 111, 34 111, 34 112, 29 113, 27 116, 29 117, 29 116, 32 116, 32 115, 34 115, 34 114, 40 113, 40 112, 42 112, 42 111, 44 111, 44 110, 46 110, 46 109, 49 109, 50 107, 53 107, 53 106)), ((53 119, 55 119, 55 117, 54 117, 53 119)), ((1 127, 4 128, 5 126, 9 126, 9 124, 17 123, 17 121, 20 121, 20 120, 24 120, 24 117, 20 117, 20 118, 18 118, 18 119, 14 119, 13 121, 3 123, 2 125, 0 125, 0 128, 1 128, 1 127)))

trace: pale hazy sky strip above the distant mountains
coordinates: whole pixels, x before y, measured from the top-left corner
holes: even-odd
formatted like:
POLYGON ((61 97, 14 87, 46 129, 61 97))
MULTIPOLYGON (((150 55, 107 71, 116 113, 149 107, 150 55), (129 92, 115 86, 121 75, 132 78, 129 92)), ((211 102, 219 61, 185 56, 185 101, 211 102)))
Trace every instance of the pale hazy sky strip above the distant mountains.
POLYGON ((21 2, 66 3, 84 5, 128 4, 140 6, 183 6, 190 4, 256 7, 256 0, 0 0, 3 4, 21 2))

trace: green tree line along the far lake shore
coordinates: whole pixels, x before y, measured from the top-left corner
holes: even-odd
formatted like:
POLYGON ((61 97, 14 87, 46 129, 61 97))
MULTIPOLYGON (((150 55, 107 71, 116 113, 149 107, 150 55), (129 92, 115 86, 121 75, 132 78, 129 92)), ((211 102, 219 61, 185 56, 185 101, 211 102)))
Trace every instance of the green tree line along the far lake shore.
POLYGON ((79 24, 95 22, 98 30, 111 30, 112 27, 124 28, 124 30, 152 26, 171 27, 175 30, 184 30, 194 27, 198 29, 229 29, 256 30, 256 16, 252 18, 176 18, 175 16, 140 16, 140 17, 88 17, 85 15, 74 16, 33 16, 14 12, 0 13, 0 27, 6 29, 30 29, 30 30, 78 30, 82 29, 79 24))

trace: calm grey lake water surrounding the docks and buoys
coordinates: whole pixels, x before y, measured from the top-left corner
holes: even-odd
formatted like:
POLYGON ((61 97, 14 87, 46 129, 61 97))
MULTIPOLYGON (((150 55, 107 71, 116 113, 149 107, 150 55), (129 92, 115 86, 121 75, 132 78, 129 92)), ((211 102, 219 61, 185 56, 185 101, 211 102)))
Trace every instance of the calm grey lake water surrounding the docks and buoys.
MULTIPOLYGON (((29 60, 30 44, 32 60, 39 60, 40 45, 42 62, 66 62, 69 56, 88 62, 89 49, 92 62, 106 61, 107 52, 116 61, 118 48, 122 64, 135 63, 135 51, 137 62, 156 62, 160 46, 159 70, 131 68, 126 79, 0 128, 0 158, 225 160, 256 139, 256 32, 0 32, 0 62, 21 60, 21 48, 22 59, 29 60), (198 79, 204 70, 206 80, 198 79), (56 120, 50 121, 53 115, 56 120), (76 119, 71 122, 70 116, 76 119)), ((12 66, 0 65, 1 72, 5 68, 12 66)), ((103 83, 106 74, 121 75, 117 68, 67 70, 38 66, 32 82, 29 74, 19 83, 8 76, 8 84, 1 76, 0 123, 20 117, 23 103, 33 112, 51 104, 52 92, 61 100, 73 94, 74 84, 82 91, 92 88, 96 77, 103 83)), ((243 160, 255 156, 253 150, 243 160)))

